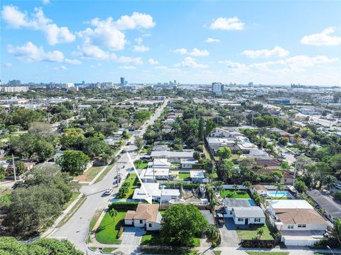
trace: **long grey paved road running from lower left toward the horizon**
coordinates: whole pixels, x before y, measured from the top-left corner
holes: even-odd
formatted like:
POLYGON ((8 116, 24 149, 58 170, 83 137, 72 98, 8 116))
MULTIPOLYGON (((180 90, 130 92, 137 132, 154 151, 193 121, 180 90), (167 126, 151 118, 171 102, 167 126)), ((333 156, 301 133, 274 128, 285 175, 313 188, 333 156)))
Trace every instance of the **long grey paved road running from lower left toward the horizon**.
MULTIPOLYGON (((141 131, 139 132, 139 135, 143 135, 146 131, 146 127, 148 125, 151 125, 154 123, 156 119, 160 116, 161 112, 163 111, 163 108, 166 107, 166 104, 168 103, 168 100, 164 102, 164 104, 156 111, 155 114, 151 117, 150 120, 148 120, 148 124, 144 124, 142 126, 141 131)), ((131 158, 134 158, 136 156, 134 152, 136 151, 136 146, 134 145, 134 139, 131 139, 131 145, 126 146, 127 151, 131 153, 131 158)), ((121 168, 121 172, 124 175, 126 174, 126 170, 131 168, 131 164, 129 163, 128 156, 126 153, 124 153, 123 156, 121 156, 119 162, 126 162, 126 163, 119 163, 119 168, 121 168), (124 166, 124 168, 122 168, 124 166)), ((49 237, 51 238, 57 238, 57 239, 68 239, 70 242, 75 244, 77 249, 80 249, 82 251, 87 251, 87 254, 99 254, 97 252, 90 251, 87 249, 86 246, 86 239, 87 234, 89 232, 89 225, 90 220, 92 219, 92 216, 96 212, 96 210, 103 210, 105 207, 107 207, 107 204, 112 198, 112 196, 104 196, 104 190, 107 188, 113 187, 114 178, 117 175, 116 165, 112 170, 109 171, 107 176, 103 178, 103 180, 99 181, 98 183, 95 183, 93 185, 83 186, 80 190, 82 193, 84 193, 87 196, 87 200, 83 203, 82 207, 80 207, 77 212, 75 212, 75 215, 73 215, 68 222, 66 222, 63 227, 60 227, 58 229, 55 229, 55 231, 50 234, 49 237)), ((114 188, 114 193, 118 191, 117 188, 114 188)))

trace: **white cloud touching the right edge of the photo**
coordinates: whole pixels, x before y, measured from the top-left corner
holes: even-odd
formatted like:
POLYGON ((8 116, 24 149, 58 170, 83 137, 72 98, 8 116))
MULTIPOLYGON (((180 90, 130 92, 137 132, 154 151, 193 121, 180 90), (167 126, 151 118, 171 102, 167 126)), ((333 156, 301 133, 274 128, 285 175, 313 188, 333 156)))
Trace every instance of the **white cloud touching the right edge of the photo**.
POLYGON ((306 45, 341 45, 340 36, 332 36, 335 32, 334 27, 325 28, 321 33, 313 33, 309 36, 303 36, 301 39, 301 44, 306 45))

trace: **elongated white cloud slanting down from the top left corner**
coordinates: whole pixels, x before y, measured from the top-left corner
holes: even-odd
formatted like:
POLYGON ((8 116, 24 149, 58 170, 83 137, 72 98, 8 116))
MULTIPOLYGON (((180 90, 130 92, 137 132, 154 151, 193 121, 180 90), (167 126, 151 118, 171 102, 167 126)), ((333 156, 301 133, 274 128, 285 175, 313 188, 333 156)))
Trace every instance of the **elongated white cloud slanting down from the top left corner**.
POLYGON ((4 21, 13 28, 30 28, 45 33, 46 39, 50 45, 58 43, 71 43, 75 40, 75 35, 69 31, 69 28, 58 27, 50 18, 46 18, 43 9, 35 8, 32 18, 28 18, 16 6, 4 6, 1 14, 4 21))

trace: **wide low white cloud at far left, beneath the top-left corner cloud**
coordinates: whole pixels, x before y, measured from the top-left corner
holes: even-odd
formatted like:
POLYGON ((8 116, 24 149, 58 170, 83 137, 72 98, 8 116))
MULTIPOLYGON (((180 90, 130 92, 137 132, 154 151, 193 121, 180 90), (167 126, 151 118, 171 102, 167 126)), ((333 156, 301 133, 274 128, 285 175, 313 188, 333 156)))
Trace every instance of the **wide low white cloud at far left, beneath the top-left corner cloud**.
POLYGON ((7 50, 16 58, 23 62, 37 62, 37 61, 49 61, 49 62, 63 62, 64 55, 59 50, 53 50, 45 52, 43 47, 37 47, 31 42, 26 43, 23 46, 13 47, 8 45, 7 50))

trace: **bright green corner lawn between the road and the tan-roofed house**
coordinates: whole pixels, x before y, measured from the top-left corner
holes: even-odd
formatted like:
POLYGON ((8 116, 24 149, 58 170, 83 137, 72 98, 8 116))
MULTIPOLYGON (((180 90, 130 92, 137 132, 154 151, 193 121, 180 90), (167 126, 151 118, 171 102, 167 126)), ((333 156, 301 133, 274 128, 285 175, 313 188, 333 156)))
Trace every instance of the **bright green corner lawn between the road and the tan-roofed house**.
POLYGON ((126 211, 118 211, 117 216, 112 219, 107 212, 96 231, 96 239, 101 244, 121 244, 121 240, 116 239, 119 228, 124 224, 126 211))

